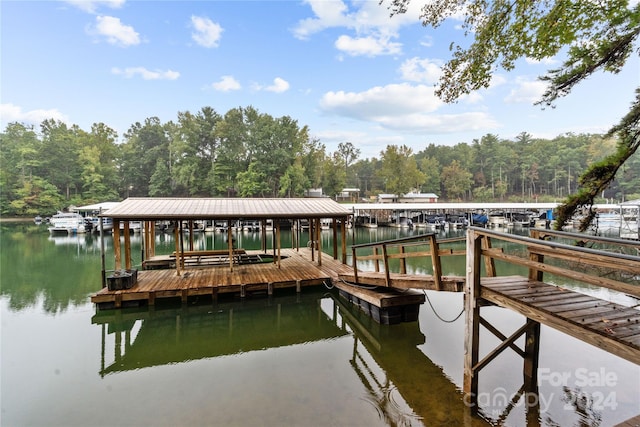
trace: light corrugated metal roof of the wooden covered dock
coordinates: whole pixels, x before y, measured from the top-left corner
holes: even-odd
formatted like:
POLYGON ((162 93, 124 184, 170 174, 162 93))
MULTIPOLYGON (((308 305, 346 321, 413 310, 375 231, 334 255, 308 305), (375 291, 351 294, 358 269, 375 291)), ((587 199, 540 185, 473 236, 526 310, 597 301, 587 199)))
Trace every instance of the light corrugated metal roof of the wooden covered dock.
POLYGON ((119 219, 342 218, 347 207, 328 198, 231 199, 132 197, 103 216, 119 219))

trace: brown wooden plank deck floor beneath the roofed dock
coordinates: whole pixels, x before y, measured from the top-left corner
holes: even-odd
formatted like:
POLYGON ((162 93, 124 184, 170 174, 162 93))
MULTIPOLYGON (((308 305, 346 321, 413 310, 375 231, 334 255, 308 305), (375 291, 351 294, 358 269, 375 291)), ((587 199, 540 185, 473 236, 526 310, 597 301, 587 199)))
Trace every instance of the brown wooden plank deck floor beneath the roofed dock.
MULTIPOLYGON (((257 251, 256 251, 257 253, 257 251)), ((254 254, 248 251, 247 254, 254 254)), ((190 297, 212 296, 223 293, 238 293, 247 296, 261 292, 269 295, 277 289, 293 288, 298 292, 305 286, 330 285, 341 272, 351 267, 323 254, 322 264, 311 260, 308 248, 282 249, 280 267, 274 263, 193 267, 181 270, 138 271, 137 283, 131 289, 113 290, 103 288, 91 296, 98 308, 118 308, 126 305, 155 304, 163 298, 180 298, 187 302, 190 297), (284 258, 286 257, 286 258, 284 258)))

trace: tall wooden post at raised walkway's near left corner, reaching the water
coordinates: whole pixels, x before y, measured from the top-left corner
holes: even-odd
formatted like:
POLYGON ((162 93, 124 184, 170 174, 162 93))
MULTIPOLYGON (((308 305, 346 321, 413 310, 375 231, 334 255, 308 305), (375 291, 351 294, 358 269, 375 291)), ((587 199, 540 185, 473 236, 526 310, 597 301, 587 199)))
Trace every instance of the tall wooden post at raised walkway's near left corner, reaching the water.
POLYGON ((467 271, 465 283, 464 380, 465 404, 472 413, 478 412, 478 349, 480 340, 480 237, 467 230, 467 271))

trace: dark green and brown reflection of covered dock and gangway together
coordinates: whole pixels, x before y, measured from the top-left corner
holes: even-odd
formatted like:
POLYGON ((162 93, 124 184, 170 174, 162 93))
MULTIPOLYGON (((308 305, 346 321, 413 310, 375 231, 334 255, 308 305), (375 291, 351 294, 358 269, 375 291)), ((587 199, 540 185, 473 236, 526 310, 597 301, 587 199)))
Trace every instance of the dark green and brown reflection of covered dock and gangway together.
POLYGON ((380 325, 329 291, 97 313, 100 372, 112 374, 348 338, 360 398, 384 425, 484 425, 418 346, 418 322, 380 325))

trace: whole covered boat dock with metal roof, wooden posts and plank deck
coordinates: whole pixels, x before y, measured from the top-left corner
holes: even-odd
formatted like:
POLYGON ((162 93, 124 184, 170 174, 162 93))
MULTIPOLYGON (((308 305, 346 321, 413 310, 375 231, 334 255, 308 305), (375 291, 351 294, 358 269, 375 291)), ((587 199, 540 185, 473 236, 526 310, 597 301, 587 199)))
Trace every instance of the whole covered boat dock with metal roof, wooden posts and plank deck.
MULTIPOLYGON (((128 198, 100 216, 113 219, 113 268, 104 250, 102 289, 91 296, 98 308, 153 305, 160 298, 220 293, 267 292, 277 288, 319 285, 331 281, 346 265, 346 229, 352 211, 328 198, 128 198), (333 259, 323 263, 321 223, 330 220, 333 259), (232 224, 259 223, 262 249, 236 247, 232 224), (141 223, 141 271, 133 266, 131 224, 141 223), (193 232, 201 223, 224 223, 227 248, 194 250, 193 232), (309 241, 300 242, 301 224, 309 241), (162 226, 174 235, 175 250, 156 254, 155 235, 162 226), (291 248, 282 247, 281 228, 292 227, 291 248), (268 251, 268 234, 272 248, 268 251), (302 243, 302 244, 301 244, 302 243), (110 263, 109 263, 110 264, 110 263)), ((102 247, 104 239, 102 235, 102 247)))

